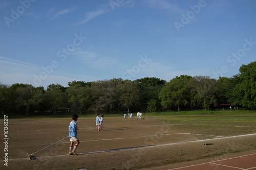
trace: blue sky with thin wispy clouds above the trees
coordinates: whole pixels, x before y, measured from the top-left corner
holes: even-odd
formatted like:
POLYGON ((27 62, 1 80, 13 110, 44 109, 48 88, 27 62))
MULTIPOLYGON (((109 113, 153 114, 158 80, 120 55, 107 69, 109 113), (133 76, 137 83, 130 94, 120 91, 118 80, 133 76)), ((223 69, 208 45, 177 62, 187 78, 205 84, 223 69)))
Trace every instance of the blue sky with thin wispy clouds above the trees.
POLYGON ((0 83, 218 79, 255 61, 256 1, 0 1, 0 83))

